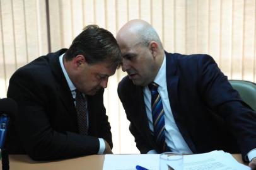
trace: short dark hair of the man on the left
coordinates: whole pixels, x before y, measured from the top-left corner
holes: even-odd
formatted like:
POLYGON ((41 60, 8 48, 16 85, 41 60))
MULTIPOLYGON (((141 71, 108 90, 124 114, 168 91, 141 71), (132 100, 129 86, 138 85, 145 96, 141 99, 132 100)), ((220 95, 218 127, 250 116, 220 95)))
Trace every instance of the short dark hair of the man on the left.
POLYGON ((65 59, 72 60, 77 55, 83 55, 86 62, 91 65, 109 61, 119 68, 122 63, 117 40, 110 31, 100 28, 98 25, 84 27, 66 51, 65 59))

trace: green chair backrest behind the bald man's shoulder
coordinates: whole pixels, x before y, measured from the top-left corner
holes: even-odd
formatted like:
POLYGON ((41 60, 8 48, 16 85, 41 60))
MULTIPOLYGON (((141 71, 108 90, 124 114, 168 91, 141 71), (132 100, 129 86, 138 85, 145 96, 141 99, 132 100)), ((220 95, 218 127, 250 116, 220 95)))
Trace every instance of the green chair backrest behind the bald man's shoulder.
POLYGON ((250 81, 229 80, 247 105, 256 111, 256 84, 250 81))

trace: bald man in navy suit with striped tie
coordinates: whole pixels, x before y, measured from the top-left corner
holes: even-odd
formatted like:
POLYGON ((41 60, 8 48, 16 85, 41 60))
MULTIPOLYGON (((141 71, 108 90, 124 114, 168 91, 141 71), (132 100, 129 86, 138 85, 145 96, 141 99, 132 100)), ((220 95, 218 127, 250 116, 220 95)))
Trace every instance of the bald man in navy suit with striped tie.
POLYGON ((126 23, 116 38, 128 74, 119 83, 119 98, 141 153, 223 149, 256 162, 256 113, 212 57, 165 52, 142 20, 126 23))

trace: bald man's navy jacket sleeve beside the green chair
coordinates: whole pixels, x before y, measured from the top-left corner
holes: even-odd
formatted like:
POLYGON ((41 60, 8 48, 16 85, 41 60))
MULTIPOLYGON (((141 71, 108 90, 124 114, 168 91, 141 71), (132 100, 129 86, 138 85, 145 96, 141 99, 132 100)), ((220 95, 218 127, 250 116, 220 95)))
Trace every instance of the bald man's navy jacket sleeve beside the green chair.
POLYGON ((256 113, 243 102, 214 60, 206 55, 197 63, 199 91, 215 113, 222 116, 240 145, 243 158, 256 148, 256 113))

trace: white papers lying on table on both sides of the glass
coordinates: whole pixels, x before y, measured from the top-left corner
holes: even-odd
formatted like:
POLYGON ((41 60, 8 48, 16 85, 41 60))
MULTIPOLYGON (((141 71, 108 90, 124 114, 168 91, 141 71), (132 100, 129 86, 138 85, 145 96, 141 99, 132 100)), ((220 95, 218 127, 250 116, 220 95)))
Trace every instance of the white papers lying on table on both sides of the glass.
MULTIPOLYGON (((106 155, 103 170, 134 170, 137 165, 159 169, 160 155, 106 155)), ((250 170, 237 162, 231 154, 214 150, 205 154, 183 156, 184 170, 250 170)))

